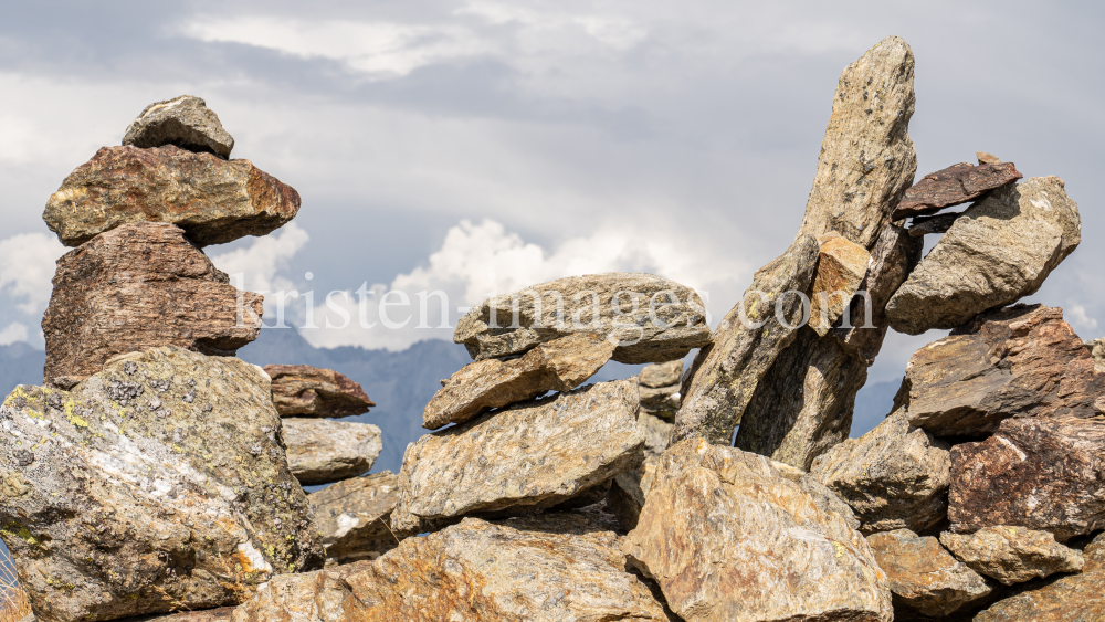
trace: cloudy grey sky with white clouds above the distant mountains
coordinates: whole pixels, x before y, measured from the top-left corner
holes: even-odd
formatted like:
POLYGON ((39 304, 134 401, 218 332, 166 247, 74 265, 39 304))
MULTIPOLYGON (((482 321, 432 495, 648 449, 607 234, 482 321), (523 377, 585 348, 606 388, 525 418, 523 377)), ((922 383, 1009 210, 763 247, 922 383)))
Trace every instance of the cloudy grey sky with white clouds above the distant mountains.
MULTIPOLYGON (((253 291, 314 292, 290 299, 288 317, 318 326, 302 330, 316 346, 448 339, 456 308, 490 293, 608 271, 692 286, 716 325, 801 222, 841 70, 890 34, 916 56, 918 177, 986 150, 1065 180, 1083 244, 1032 301, 1096 338, 1103 13, 1010 1, 9 2, 0 344, 42 347, 65 251, 41 220, 46 199, 147 104, 186 93, 218 113, 232 157, 303 197, 291 224, 207 253, 253 291), (391 289, 415 304, 442 291, 450 318, 415 310, 388 329, 376 302, 391 289), (341 319, 332 291, 355 318, 357 292, 373 292, 377 326, 328 329, 341 319)), ((892 334, 871 381, 899 378, 939 336, 892 334)))

